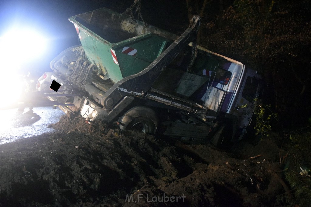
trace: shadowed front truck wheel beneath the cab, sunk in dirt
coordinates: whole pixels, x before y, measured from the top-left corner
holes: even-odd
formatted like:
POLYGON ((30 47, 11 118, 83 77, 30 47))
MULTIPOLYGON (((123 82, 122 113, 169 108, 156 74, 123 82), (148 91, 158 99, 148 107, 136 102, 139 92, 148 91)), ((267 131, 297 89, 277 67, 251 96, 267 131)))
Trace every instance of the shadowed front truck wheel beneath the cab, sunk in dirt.
POLYGON ((232 145, 231 142, 232 133, 233 133, 232 125, 224 124, 217 130, 213 138, 211 138, 211 143, 220 149, 227 150, 232 145))

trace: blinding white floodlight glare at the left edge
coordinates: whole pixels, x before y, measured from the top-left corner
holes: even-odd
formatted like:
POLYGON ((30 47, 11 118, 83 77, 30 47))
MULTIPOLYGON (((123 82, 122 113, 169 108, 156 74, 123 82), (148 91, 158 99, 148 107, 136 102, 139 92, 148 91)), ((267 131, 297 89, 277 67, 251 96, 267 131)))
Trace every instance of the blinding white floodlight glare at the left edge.
POLYGON ((17 102, 24 90, 22 66, 42 56, 46 44, 43 35, 29 28, 13 28, 0 37, 0 108, 17 102))

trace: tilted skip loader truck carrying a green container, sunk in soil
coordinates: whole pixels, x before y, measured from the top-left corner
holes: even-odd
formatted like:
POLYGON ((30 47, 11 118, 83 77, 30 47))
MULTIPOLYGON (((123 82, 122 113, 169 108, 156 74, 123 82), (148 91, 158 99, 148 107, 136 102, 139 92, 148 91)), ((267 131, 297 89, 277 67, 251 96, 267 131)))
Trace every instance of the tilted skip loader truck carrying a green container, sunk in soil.
POLYGON ((59 54, 36 85, 65 113, 216 146, 246 133, 261 77, 197 46, 198 16, 180 36, 107 8, 69 21, 81 45, 59 54))

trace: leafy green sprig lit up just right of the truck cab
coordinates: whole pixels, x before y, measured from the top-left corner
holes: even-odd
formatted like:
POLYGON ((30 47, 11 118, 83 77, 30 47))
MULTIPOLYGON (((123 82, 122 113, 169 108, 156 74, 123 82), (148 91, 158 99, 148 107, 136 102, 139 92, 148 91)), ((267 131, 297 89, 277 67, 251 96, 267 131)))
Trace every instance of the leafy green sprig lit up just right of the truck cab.
POLYGON ((276 113, 272 113, 269 109, 271 105, 265 105, 262 103, 258 103, 258 99, 254 99, 255 110, 254 114, 256 115, 256 126, 254 129, 256 130, 255 135, 261 134, 261 136, 269 136, 269 132, 271 131, 271 117, 277 118, 276 113), (266 110, 269 110, 269 115, 267 115, 266 110))

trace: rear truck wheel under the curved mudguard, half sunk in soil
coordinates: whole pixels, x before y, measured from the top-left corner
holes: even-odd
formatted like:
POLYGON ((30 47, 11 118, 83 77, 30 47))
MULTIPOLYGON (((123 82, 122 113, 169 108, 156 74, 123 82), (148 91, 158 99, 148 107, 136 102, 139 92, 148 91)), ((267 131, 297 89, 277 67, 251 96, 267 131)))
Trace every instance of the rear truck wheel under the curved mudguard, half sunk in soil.
POLYGON ((133 119, 128 124, 126 129, 137 130, 139 132, 153 134, 155 131, 155 127, 156 126, 151 119, 141 116, 141 117, 136 117, 135 119, 133 119))

